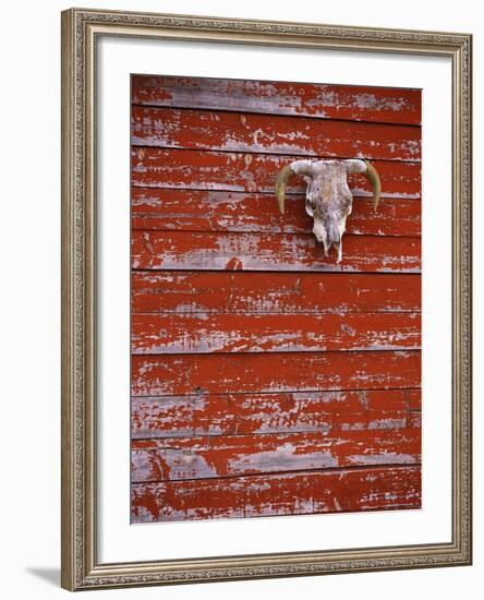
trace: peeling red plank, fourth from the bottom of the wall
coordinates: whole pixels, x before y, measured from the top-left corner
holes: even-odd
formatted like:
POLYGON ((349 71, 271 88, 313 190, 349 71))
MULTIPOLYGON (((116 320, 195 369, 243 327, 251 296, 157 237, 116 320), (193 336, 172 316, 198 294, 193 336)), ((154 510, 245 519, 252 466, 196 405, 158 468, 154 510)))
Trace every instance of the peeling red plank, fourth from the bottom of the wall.
POLYGON ((419 350, 133 356, 132 395, 419 387, 419 350))

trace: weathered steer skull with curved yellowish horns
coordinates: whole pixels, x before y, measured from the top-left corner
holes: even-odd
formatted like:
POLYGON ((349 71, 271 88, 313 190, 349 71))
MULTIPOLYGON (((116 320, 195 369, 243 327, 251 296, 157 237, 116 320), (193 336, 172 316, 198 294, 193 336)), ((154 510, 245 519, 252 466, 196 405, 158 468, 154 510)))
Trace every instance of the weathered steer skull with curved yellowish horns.
POLYGON ((353 195, 348 185, 348 176, 363 173, 373 188, 375 211, 378 206, 380 182, 373 165, 366 160, 295 160, 283 167, 276 182, 276 196, 281 214, 285 212, 286 185, 293 175, 302 175, 307 183, 306 213, 313 217, 313 233, 323 243, 325 256, 334 245, 338 263, 342 256, 341 239, 347 217, 351 214, 353 195))

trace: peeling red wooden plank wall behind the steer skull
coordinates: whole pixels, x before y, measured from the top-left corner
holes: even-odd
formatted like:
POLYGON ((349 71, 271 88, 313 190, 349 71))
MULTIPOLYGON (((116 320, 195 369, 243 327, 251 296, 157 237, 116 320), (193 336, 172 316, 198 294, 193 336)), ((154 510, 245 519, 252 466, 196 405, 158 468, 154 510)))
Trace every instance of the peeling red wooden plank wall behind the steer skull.
POLYGON ((132 80, 132 521, 421 504, 421 95, 132 80), (297 158, 366 158, 343 260, 297 158))

